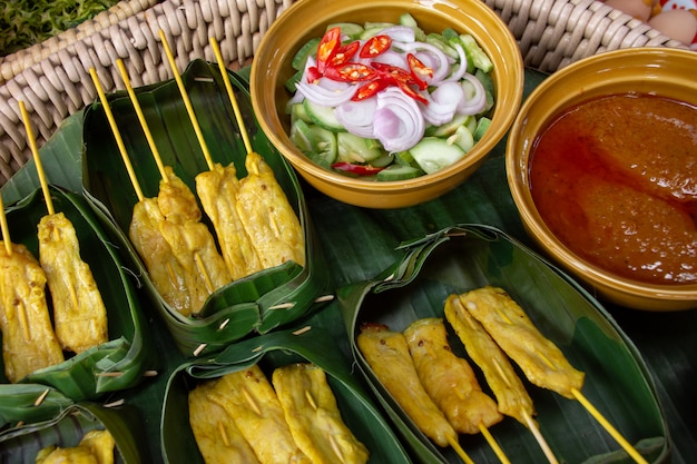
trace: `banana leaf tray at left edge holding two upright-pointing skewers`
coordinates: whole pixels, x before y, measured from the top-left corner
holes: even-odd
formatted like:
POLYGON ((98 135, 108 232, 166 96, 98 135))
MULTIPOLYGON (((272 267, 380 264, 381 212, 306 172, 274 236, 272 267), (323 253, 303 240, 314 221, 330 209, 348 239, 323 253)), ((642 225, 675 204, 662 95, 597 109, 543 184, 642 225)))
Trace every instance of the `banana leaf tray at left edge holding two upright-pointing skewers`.
MULTIPOLYGON (((140 382, 148 368, 151 346, 144 338, 145 319, 141 300, 135 292, 132 276, 107 239, 85 199, 62 188, 49 186, 57 213, 72 223, 80 244, 80 255, 95 277, 107 309, 109 342, 67 357, 58 365, 33 372, 22 384, 51 386, 73 401, 95 399, 105 393, 129 388, 140 382)), ((8 206, 9 234, 13 243, 23 244, 39 256, 37 225, 48 214, 41 190, 8 206)), ((49 290, 47 298, 50 308, 49 290)), ((0 415, 12 403, 14 386, 4 376, 0 361, 0 415)))

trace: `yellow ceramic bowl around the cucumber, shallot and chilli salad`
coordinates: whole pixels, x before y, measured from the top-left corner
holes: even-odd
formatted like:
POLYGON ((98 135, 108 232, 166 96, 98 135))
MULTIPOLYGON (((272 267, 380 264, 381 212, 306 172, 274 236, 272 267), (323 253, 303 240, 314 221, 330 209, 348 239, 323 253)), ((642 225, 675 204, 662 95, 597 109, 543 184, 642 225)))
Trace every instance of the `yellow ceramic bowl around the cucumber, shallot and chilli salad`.
POLYGON ((520 108, 523 65, 514 38, 495 13, 480 0, 457 3, 434 0, 300 0, 275 22, 259 43, 252 65, 252 103, 259 126, 272 144, 312 186, 337 200, 370 208, 400 208, 433 199, 469 177, 501 140, 520 108), (311 38, 340 21, 397 22, 411 13, 426 32, 451 27, 471 33, 494 63, 497 105, 492 124, 474 148, 454 165, 416 179, 366 181, 342 176, 312 162, 288 138, 285 106, 291 95, 284 82, 294 73, 291 60, 311 38))

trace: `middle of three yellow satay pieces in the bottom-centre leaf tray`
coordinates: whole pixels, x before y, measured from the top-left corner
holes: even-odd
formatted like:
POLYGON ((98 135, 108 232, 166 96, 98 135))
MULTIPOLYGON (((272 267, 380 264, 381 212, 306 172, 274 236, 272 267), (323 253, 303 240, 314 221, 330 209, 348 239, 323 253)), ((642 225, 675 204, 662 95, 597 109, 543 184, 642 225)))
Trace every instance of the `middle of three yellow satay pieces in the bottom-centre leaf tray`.
POLYGON ((220 377, 208 397, 233 417, 262 464, 310 464, 295 444, 271 383, 254 365, 220 377))

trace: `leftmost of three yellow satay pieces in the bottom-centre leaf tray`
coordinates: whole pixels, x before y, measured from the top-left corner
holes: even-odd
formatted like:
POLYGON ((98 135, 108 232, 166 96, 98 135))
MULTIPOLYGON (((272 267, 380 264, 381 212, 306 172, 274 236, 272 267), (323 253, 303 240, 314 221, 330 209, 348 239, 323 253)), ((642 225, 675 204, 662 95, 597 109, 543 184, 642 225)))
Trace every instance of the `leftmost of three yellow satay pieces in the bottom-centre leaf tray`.
POLYGON ((215 384, 216 381, 202 383, 188 395, 189 424, 204 462, 258 464, 233 418, 208 397, 215 384))

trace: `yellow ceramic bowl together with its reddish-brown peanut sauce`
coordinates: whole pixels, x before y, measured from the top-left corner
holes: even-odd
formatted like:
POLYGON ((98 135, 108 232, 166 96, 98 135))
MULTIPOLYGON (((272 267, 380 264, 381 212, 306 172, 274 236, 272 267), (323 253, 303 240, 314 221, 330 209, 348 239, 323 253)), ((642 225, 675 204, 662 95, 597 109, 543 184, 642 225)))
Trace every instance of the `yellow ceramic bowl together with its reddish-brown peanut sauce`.
POLYGON ((507 175, 533 241, 601 299, 697 307, 697 55, 601 53, 521 107, 507 175))

